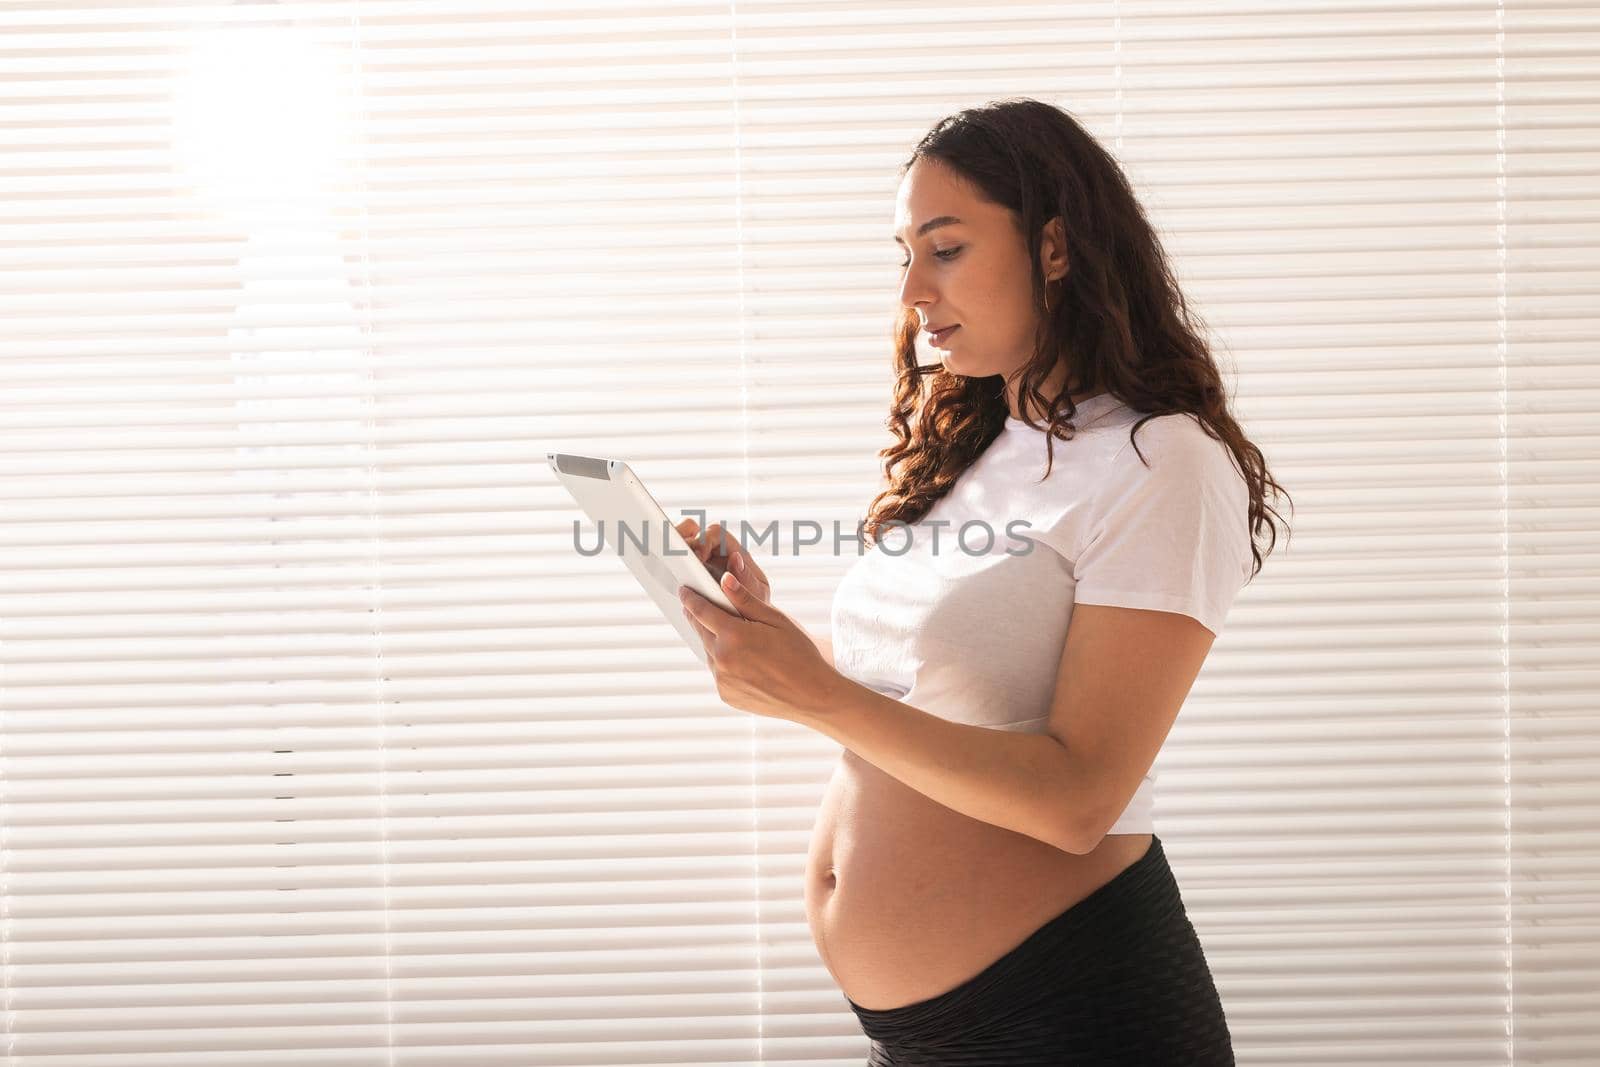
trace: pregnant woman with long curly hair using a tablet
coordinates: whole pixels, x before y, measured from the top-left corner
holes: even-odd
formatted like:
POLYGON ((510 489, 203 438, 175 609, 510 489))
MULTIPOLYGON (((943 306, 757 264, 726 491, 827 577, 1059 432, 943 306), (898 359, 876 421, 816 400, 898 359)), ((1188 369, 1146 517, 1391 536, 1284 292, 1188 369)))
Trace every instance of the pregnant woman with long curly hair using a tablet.
POLYGON ((1282 486, 1066 112, 939 122, 893 240, 898 442, 830 638, 738 539, 680 526, 744 616, 683 595, 718 694, 843 745, 806 865, 818 953, 869 1065, 1232 1064, 1150 768, 1282 486))

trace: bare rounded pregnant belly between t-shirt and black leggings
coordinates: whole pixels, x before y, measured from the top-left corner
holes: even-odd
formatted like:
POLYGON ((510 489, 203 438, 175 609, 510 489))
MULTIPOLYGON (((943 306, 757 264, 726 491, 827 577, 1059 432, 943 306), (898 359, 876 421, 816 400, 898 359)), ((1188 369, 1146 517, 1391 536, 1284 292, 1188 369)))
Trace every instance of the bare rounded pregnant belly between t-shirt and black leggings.
POLYGON ((862 1008, 938 997, 1144 856, 1085 856, 960 814, 845 749, 811 830, 805 909, 822 965, 862 1008))

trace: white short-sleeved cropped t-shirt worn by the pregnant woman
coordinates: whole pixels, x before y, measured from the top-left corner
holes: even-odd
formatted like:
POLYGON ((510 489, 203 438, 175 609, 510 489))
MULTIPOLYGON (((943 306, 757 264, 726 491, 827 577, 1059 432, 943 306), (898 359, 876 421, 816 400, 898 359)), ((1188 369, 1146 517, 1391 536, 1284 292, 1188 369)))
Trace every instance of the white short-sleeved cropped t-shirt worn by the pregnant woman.
MULTIPOLYGON (((1178 611, 1222 632, 1250 577, 1250 491, 1222 442, 1189 414, 1110 394, 1078 403, 1054 440, 1002 434, 917 523, 888 528, 840 577, 840 673, 941 718, 1046 733, 1074 603, 1178 611), (963 530, 965 528, 965 530, 963 530)), ((1152 833, 1146 774, 1110 833, 1152 833)))

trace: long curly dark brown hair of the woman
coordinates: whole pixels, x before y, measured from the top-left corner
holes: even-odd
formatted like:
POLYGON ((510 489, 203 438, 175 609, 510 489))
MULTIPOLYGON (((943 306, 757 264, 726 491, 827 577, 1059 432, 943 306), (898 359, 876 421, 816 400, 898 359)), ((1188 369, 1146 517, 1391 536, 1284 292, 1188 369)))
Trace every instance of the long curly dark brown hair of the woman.
MULTIPOLYGON (((1203 323, 1184 301, 1122 166, 1070 114, 1029 98, 989 101, 941 118, 901 165, 901 178, 923 158, 952 168, 982 198, 1011 211, 1027 242, 1042 328, 1018 392, 1029 426, 1029 400, 1053 413, 1045 427, 1045 477, 1054 464, 1053 440, 1072 440, 1077 430, 1074 389, 1109 392, 1147 413, 1128 434, 1146 466, 1139 427, 1160 414, 1190 413, 1208 437, 1229 446, 1250 485, 1254 577, 1262 563, 1256 533, 1267 526, 1270 553, 1277 525, 1267 514, 1282 522, 1266 504, 1266 490, 1286 493, 1229 414, 1203 323), (1072 262, 1059 288, 1046 294, 1040 230, 1056 216, 1072 262), (1066 382, 1046 400, 1038 386, 1062 358, 1066 382)), ((861 523, 864 544, 875 544, 890 523, 909 525, 926 515, 1000 435, 1010 414, 1003 376, 966 378, 939 363, 918 363, 918 328, 917 312, 902 307, 894 323, 894 402, 886 419, 896 442, 878 453, 888 488, 872 499, 861 523)))

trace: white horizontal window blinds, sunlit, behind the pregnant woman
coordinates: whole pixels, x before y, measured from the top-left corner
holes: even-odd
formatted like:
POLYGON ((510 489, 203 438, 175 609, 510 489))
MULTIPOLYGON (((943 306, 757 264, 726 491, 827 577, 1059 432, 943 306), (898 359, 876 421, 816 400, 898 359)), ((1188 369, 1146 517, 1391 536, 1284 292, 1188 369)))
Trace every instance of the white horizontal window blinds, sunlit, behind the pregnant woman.
MULTIPOLYGON (((1125 162, 1294 498, 1160 757, 1240 1062, 1600 1061, 1592 5, 0 27, 8 1064, 859 1064, 837 745, 542 458, 853 530, 896 166, 1003 96, 1125 162)), ((853 545, 782 547, 822 632, 853 545)))

